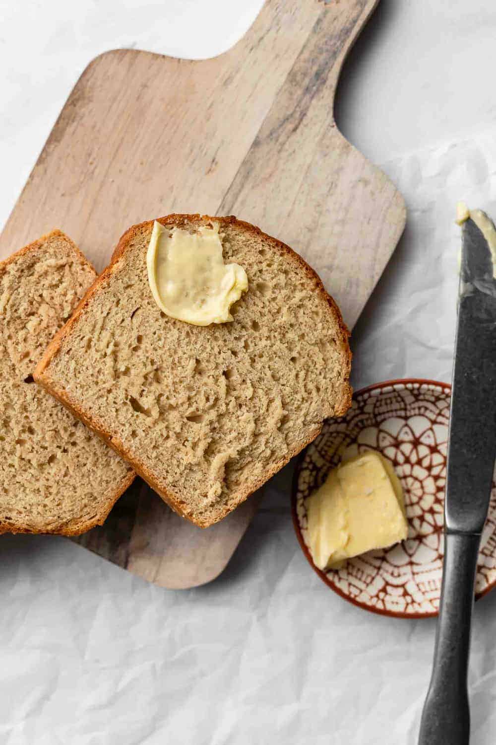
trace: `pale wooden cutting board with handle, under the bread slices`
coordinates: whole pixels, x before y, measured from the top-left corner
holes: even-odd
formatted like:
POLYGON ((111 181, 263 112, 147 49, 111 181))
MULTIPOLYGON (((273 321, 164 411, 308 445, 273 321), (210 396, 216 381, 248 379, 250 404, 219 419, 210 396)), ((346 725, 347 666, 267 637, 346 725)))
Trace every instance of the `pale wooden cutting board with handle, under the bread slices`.
MULTIPOLYGON (((376 3, 266 0, 245 37, 212 60, 131 49, 94 59, 7 221, 0 259, 57 226, 102 270, 132 223, 233 214, 301 253, 352 327, 405 226, 401 195, 332 111, 376 3)), ((225 567, 259 499, 200 530, 137 480, 78 541, 158 585, 196 586, 225 567)))

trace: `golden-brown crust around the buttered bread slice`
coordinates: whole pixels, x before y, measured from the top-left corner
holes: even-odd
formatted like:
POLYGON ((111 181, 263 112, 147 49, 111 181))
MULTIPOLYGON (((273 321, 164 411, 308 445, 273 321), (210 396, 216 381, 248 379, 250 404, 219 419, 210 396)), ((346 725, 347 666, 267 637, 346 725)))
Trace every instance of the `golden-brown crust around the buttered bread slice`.
MULTIPOLYGON (((334 416, 343 416, 344 413, 346 413, 347 410, 350 408, 352 400, 352 388, 348 382, 352 361, 352 353, 350 351, 350 345, 348 343, 350 332, 347 329, 346 324, 344 323, 338 305, 336 304, 335 300, 327 293, 326 289, 323 286, 321 278, 318 276, 315 270, 313 270, 312 267, 310 267, 309 264, 307 264, 306 261, 299 254, 297 254, 294 250, 292 250, 292 248, 284 244, 282 241, 279 241, 277 240, 277 238, 273 238, 272 236, 267 235, 262 230, 260 230, 259 227, 251 225, 251 223, 238 220, 233 215, 222 218, 212 217, 210 215, 179 215, 173 213, 172 215, 166 215, 162 218, 156 218, 156 220, 162 225, 174 225, 178 228, 191 226, 192 223, 193 225, 200 225, 208 221, 215 221, 216 223, 220 223, 221 226, 236 224, 238 226, 241 226, 247 232, 251 232, 257 236, 263 236, 263 238, 268 241, 269 244, 271 244, 271 247, 273 247, 274 250, 281 253, 286 253, 286 255, 289 256, 290 259, 292 259, 292 261, 295 261, 298 264, 300 269, 303 270, 304 273, 306 273, 306 276, 308 276, 309 279, 312 279, 312 281, 315 282, 316 291, 321 294, 322 299, 327 303, 329 307, 329 313, 332 315, 332 319, 337 322, 338 329, 341 334, 341 352, 344 353, 344 385, 343 395, 341 396, 341 401, 338 402, 338 404, 336 405, 334 416)), ((54 382, 51 381, 51 378, 48 375, 48 367, 51 361, 57 355, 57 352, 59 352, 62 341, 65 339, 65 337, 68 337, 68 335, 70 335, 71 332, 75 329, 81 315, 88 307, 94 294, 96 294, 99 288, 104 285, 105 282, 107 282, 110 276, 112 276, 117 263, 120 261, 124 253, 126 253, 126 248, 129 246, 129 243, 132 241, 133 238, 135 238, 136 235, 138 235, 138 232, 141 232, 144 228, 152 227, 153 223, 154 220, 138 223, 131 226, 129 229, 126 230, 126 232, 123 233, 123 235, 120 237, 119 242, 117 243, 117 247, 115 248, 114 253, 112 254, 110 264, 106 267, 106 269, 103 270, 94 284, 91 285, 91 288, 88 289, 86 295, 83 297, 83 299, 81 299, 79 305, 74 311, 74 314, 71 316, 68 322, 65 323, 65 326, 62 326, 62 329, 59 329, 57 335, 55 335, 53 340, 51 340, 51 343, 45 350, 45 354, 42 356, 42 359, 39 361, 36 369, 34 370, 33 378, 36 382, 45 387, 45 389, 48 390, 48 392, 51 393, 52 396, 55 396, 55 398, 57 398, 59 402, 62 403, 62 405, 65 405, 69 410, 71 410, 74 416, 77 416, 78 419, 81 419, 81 421, 83 421, 89 428, 91 428, 91 430, 102 437, 102 439, 105 440, 105 442, 109 446, 114 448, 115 451, 132 466, 135 472, 137 472, 138 475, 144 478, 146 483, 149 484, 149 486, 151 486, 152 489, 154 489, 155 492, 157 492, 158 495, 160 495, 161 498, 163 498, 164 501, 167 502, 167 504, 169 504, 169 506, 176 513, 190 520, 194 524, 199 525, 199 527, 209 527, 210 525, 214 524, 215 522, 219 522, 219 520, 222 520, 225 516, 227 516, 228 513, 233 510, 233 507, 229 504, 226 504, 225 510, 223 510, 222 513, 219 513, 219 516, 216 516, 216 519, 214 520, 202 519, 202 516, 198 516, 192 514, 190 511, 184 510, 184 503, 181 501, 181 498, 179 498, 172 492, 164 489, 161 484, 158 484, 152 472, 149 472, 149 470, 143 463, 138 463, 136 460, 129 456, 129 453, 126 451, 126 448, 124 447, 122 441, 118 437, 112 436, 109 431, 106 431, 103 422, 97 421, 97 419, 87 416, 80 405, 78 405, 77 402, 74 402, 74 400, 71 399, 70 393, 68 393, 68 391, 64 390, 62 387, 54 384, 54 382)), ((297 455, 304 447, 311 443, 312 440, 315 440, 315 437, 317 437, 321 431, 322 425, 323 422, 319 424, 316 423, 315 429, 312 431, 312 434, 308 438, 304 438, 304 440, 302 440, 300 443, 297 443, 297 445, 292 448, 292 451, 290 451, 288 454, 286 454, 285 457, 277 461, 277 463, 275 463, 274 466, 272 466, 270 469, 265 471, 263 477, 255 481, 253 484, 250 484, 247 489, 236 492, 235 507, 241 504, 242 501, 245 501, 245 499, 248 498, 249 495, 253 494, 253 492, 257 491, 260 486, 263 486, 263 484, 265 484, 265 482, 268 481, 271 476, 273 476, 281 468, 283 468, 283 466, 286 466, 286 463, 289 463, 289 460, 291 460, 292 457, 297 455)))

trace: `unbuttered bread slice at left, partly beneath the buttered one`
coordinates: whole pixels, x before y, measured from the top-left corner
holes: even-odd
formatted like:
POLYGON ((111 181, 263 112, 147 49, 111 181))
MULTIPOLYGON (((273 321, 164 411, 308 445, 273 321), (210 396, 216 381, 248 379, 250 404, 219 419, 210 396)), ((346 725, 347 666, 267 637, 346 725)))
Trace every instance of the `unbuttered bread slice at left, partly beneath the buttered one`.
POLYGON ((0 533, 101 524, 134 473, 33 381, 96 273, 54 230, 0 263, 0 533))

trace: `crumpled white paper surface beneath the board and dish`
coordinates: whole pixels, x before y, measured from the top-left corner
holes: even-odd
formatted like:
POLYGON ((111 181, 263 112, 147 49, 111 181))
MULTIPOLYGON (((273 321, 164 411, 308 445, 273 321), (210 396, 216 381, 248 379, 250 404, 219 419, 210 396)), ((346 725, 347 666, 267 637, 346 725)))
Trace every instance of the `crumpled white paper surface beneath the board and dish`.
MULTIPOLYGON (((91 57, 121 46, 213 55, 260 6, 1 0, 0 223, 91 57)), ((450 379, 454 203, 496 215, 495 42, 487 0, 381 0, 347 63, 338 124, 408 205, 355 330, 356 386, 450 379)), ((413 745, 434 621, 367 614, 318 580, 294 538, 290 476, 274 478, 219 580, 189 592, 65 539, 2 536, 0 745, 413 745)), ((474 615, 474 745, 496 739, 495 633, 496 592, 474 615)))

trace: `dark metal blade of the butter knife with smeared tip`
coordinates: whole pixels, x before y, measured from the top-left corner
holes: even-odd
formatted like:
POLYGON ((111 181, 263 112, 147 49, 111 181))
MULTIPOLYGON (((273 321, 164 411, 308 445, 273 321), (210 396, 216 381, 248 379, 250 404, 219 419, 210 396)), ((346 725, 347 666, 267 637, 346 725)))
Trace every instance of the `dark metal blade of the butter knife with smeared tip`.
MULTIPOLYGON (((488 216, 477 212, 494 230, 488 216)), ((447 530, 482 531, 489 507, 495 451, 496 279, 486 236, 480 226, 468 218, 462 225, 451 388, 445 492, 447 530)))

